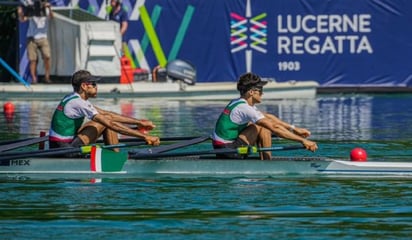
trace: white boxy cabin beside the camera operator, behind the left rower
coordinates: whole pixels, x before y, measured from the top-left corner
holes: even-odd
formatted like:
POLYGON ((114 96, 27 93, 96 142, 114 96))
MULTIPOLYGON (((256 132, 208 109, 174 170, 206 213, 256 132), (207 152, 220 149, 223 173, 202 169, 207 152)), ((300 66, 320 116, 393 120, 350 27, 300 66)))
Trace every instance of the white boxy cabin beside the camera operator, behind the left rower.
MULTIPOLYGON (((53 8, 53 11, 48 31, 51 75, 69 77, 79 69, 87 69, 102 78, 118 79, 121 73, 119 23, 82 9, 53 8)), ((43 66, 38 69, 40 74, 44 73, 43 66)))

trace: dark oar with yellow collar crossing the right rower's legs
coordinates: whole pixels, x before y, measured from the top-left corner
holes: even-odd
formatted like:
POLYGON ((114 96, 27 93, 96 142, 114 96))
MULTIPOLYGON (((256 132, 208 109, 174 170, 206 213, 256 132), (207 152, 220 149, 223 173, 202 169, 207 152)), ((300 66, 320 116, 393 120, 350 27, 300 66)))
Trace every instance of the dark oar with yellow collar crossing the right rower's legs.
POLYGON ((209 154, 228 154, 228 153, 238 153, 238 154, 251 154, 266 151, 286 151, 286 150, 298 150, 304 149, 302 145, 292 145, 292 146, 274 146, 268 148, 257 148, 257 147, 239 147, 234 149, 222 148, 213 149, 205 151, 192 151, 192 152, 172 152, 172 153, 139 153, 139 152, 129 152, 130 159, 150 159, 150 158, 162 158, 162 157, 181 157, 181 156, 196 156, 196 155, 209 155, 209 154))

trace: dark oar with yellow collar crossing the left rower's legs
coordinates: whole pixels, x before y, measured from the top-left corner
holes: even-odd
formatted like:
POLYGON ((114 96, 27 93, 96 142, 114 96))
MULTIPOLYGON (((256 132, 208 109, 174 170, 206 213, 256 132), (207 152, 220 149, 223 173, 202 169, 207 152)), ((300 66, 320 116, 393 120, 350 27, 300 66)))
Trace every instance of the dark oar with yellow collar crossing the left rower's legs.
MULTIPOLYGON (((132 144, 134 146, 143 145, 143 143, 136 143, 132 144)), ((105 145, 100 146, 104 149, 111 149, 111 148, 121 148, 121 147, 130 147, 130 144, 114 144, 114 145, 105 145)), ((26 152, 10 152, 10 153, 3 153, 0 157, 0 160, 13 160, 19 158, 28 158, 28 157, 45 157, 45 156, 62 156, 71 153, 81 153, 86 154, 90 153, 91 148, 94 145, 82 146, 82 147, 66 147, 66 148, 53 148, 48 150, 37 150, 37 151, 26 151, 26 152)))

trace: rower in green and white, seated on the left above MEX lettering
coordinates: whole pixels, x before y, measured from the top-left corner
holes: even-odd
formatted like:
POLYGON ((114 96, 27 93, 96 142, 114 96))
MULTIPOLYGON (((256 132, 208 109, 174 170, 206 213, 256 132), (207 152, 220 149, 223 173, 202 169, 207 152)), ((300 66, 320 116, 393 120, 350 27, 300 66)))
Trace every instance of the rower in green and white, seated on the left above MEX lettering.
POLYGON ((159 145, 158 137, 138 129, 152 130, 156 126, 149 120, 140 120, 94 106, 89 98, 97 96, 98 78, 89 71, 79 70, 72 76, 73 93, 66 95, 54 111, 50 132, 50 148, 79 147, 95 143, 103 136, 105 144, 118 144, 117 134, 142 138, 149 145, 159 145), (90 121, 83 124, 83 120, 90 121))

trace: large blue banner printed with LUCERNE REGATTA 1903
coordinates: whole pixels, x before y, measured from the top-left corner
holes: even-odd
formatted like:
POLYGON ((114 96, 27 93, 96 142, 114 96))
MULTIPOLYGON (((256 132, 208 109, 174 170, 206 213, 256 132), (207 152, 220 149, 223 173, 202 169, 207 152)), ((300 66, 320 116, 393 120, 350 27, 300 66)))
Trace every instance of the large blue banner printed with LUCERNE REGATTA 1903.
MULTIPOLYGON (((106 4, 79 2, 102 18, 106 4)), ((148 70, 182 59, 196 66, 198 82, 253 71, 323 86, 412 86, 412 1, 124 0, 123 7, 126 54, 148 70)))

